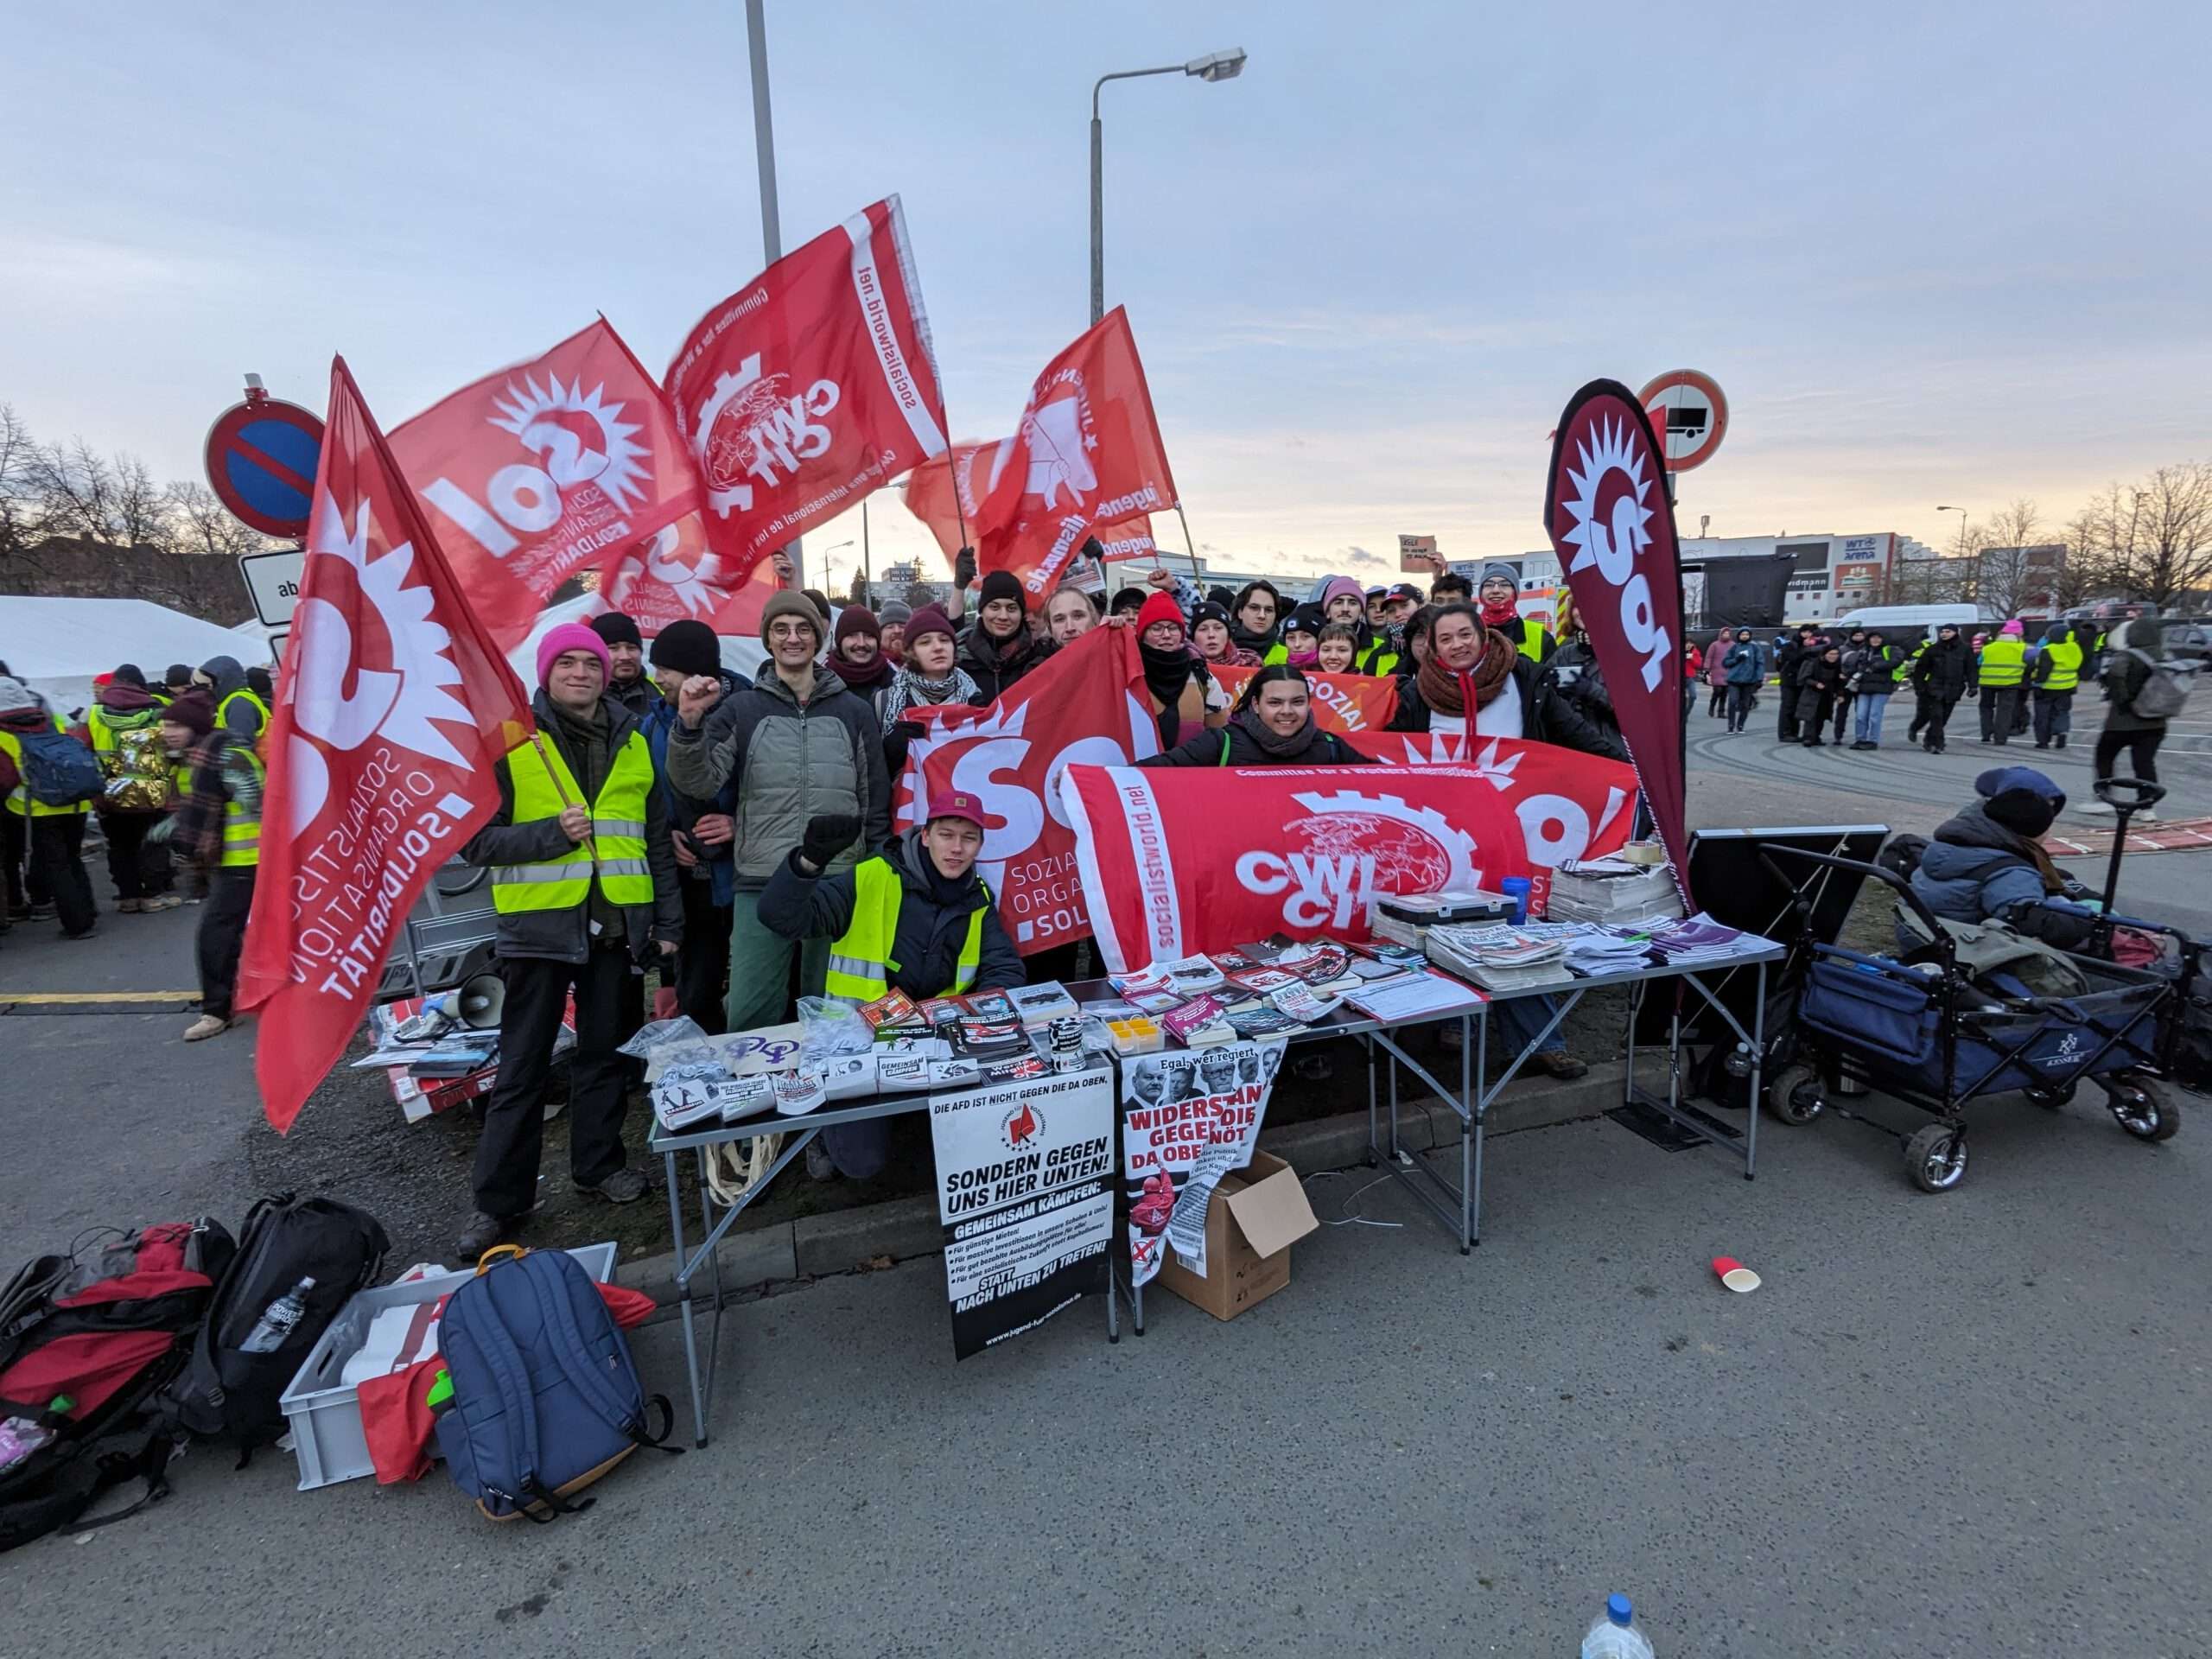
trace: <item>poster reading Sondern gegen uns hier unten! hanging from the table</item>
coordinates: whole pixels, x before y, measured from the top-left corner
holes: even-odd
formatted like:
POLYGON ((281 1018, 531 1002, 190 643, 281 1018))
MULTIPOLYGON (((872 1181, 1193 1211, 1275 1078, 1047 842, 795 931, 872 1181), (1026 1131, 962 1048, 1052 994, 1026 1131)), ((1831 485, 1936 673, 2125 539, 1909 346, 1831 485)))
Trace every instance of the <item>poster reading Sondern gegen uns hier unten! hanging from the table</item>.
POLYGON ((1113 1106, 1102 1068, 929 1102, 956 1358, 1106 1290, 1113 1106))

